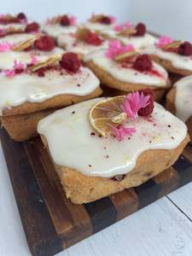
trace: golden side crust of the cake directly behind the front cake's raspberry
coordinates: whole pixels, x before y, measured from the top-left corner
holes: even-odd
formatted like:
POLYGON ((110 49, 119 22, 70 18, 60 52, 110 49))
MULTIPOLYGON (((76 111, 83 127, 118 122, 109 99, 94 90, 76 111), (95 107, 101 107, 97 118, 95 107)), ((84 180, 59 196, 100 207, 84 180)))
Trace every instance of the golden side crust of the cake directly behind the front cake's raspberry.
POLYGON ((125 93, 148 88, 154 90, 154 99, 156 101, 160 101, 162 96, 165 94, 166 90, 168 90, 171 87, 169 79, 167 79, 166 87, 157 87, 145 84, 131 84, 114 79, 112 75, 102 70, 101 67, 96 66, 96 64, 93 63, 93 61, 86 62, 86 66, 90 67, 93 73, 96 74, 97 78, 100 79, 102 84, 105 84, 106 86, 111 87, 113 89, 125 91, 125 93))

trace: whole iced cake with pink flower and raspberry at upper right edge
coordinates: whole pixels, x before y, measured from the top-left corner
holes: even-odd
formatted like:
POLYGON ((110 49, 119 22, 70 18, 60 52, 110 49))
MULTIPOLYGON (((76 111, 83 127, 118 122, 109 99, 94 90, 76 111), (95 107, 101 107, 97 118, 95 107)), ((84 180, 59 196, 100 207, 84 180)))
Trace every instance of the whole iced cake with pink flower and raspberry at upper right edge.
POLYGON ((161 37, 153 47, 143 49, 171 73, 188 76, 192 74, 192 45, 189 42, 175 41, 161 37))

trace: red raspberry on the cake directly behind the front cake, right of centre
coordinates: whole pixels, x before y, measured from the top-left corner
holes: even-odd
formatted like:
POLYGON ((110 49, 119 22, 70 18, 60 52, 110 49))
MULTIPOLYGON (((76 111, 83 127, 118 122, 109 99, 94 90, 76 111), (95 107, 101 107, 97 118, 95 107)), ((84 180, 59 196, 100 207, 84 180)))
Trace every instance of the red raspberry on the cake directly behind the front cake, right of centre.
POLYGON ((133 68, 137 69, 140 72, 151 71, 153 63, 149 55, 139 55, 136 61, 133 64, 133 68))

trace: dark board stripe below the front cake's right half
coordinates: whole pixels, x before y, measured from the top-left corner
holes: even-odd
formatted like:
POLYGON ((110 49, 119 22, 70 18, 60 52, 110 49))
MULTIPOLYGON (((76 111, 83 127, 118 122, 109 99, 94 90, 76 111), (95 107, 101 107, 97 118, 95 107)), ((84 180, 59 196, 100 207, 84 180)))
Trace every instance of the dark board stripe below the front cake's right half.
POLYGON ((137 193, 138 209, 141 209, 159 198, 160 185, 149 179, 134 190, 137 193))

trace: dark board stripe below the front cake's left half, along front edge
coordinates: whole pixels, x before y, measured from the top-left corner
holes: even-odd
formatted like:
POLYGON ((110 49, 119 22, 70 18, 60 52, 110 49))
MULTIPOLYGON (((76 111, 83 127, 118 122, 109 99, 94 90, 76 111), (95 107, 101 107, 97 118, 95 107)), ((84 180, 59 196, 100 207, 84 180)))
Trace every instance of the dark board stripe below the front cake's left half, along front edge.
POLYGON ((84 204, 90 215, 93 233, 105 229, 117 221, 117 211, 109 197, 84 204))

